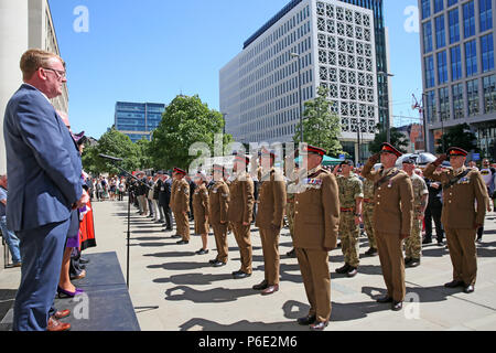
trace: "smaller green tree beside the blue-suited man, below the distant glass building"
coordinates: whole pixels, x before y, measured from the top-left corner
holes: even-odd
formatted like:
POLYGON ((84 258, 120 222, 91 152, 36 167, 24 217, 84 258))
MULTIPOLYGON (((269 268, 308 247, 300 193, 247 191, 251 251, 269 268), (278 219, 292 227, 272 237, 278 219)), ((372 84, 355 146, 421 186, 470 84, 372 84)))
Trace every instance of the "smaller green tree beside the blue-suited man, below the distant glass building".
POLYGON ((131 139, 114 127, 105 132, 98 140, 98 145, 85 149, 83 153, 83 168, 95 174, 112 173, 118 174, 120 171, 111 162, 99 157, 107 154, 122 158, 119 165, 128 171, 137 170, 141 167, 139 158, 139 148, 132 143, 131 139))

